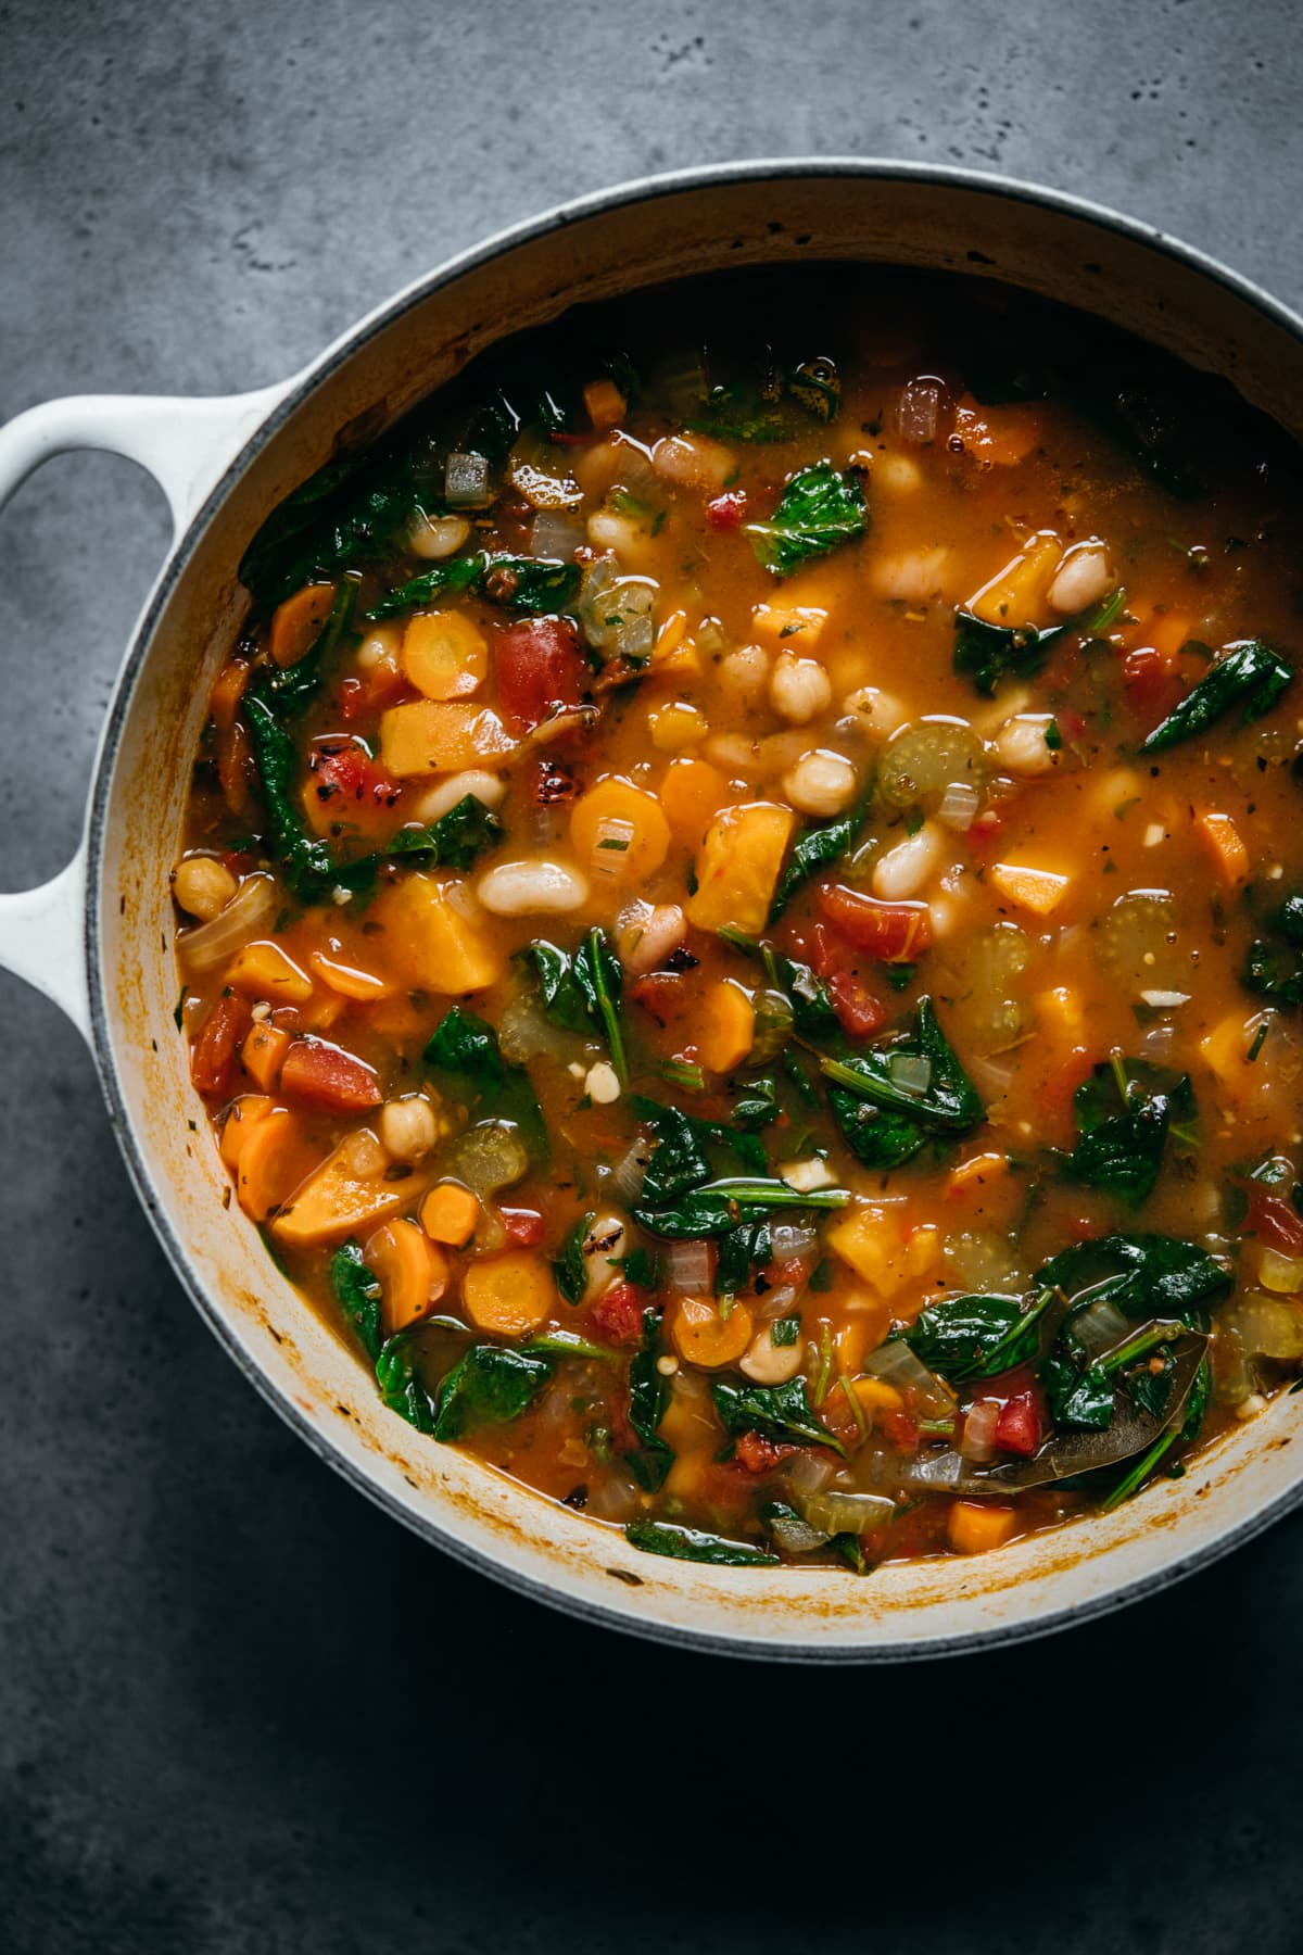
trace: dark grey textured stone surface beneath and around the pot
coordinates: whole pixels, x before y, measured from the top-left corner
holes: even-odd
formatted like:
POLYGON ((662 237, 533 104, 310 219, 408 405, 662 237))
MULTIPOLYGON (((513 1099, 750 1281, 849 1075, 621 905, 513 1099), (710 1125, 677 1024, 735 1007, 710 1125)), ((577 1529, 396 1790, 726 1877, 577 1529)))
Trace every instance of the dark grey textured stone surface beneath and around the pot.
MULTIPOLYGON (((608 182, 856 152, 1098 196, 1303 299, 1282 0, 0 6, 0 414, 252 387, 608 182)), ((0 526, 0 878, 57 870, 164 547, 127 463, 0 526)), ((199 1327, 90 1060, 0 979, 0 1947, 1258 1955, 1303 1939, 1303 1519, 1057 1640, 682 1656, 465 1574, 199 1327)))

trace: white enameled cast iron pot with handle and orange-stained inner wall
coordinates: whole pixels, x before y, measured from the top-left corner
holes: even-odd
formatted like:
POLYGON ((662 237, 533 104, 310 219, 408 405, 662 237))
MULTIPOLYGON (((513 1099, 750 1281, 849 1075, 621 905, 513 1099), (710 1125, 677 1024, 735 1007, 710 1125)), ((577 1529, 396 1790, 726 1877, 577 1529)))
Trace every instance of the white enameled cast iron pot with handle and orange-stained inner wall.
POLYGON ((1117 1513, 975 1560, 860 1580, 637 1554, 385 1412, 254 1226, 223 1208, 172 1019, 168 868, 209 682, 244 612, 236 563, 268 510, 340 430, 387 424, 508 332, 686 274, 799 260, 961 270, 1069 301, 1227 375, 1303 436, 1303 321, 1198 252, 998 178, 834 160, 725 166, 567 205, 418 280, 279 387, 35 407, 0 430, 0 502, 49 456, 107 448, 158 477, 176 536, 117 680, 84 843, 55 882, 0 895, 0 966, 90 1042, 127 1167, 195 1308, 303 1439, 389 1513, 510 1587, 621 1629, 770 1658, 930 1656, 1115 1607, 1258 1533, 1303 1498, 1303 1394, 1117 1513))

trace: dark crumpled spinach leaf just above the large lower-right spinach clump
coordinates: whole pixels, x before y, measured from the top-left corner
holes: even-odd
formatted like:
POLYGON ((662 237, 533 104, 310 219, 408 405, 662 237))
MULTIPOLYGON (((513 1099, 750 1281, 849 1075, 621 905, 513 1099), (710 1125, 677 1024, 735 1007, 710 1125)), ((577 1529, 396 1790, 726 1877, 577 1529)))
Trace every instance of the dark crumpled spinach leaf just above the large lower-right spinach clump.
POLYGON ((1168 1130, 1198 1118, 1188 1073, 1145 1060, 1096 1065, 1072 1095, 1076 1132, 1067 1171, 1090 1189, 1108 1189, 1131 1208, 1153 1195, 1168 1130))

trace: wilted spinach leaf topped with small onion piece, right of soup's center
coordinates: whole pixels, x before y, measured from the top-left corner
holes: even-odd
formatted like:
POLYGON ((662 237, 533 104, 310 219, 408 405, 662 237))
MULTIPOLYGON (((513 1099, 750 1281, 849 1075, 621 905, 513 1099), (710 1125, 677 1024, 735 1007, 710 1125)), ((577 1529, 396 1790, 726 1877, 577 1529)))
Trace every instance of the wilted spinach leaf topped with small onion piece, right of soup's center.
POLYGON ((977 1087, 942 1032, 930 997, 914 1007, 914 1026, 846 1060, 819 1062, 830 1081, 828 1105, 846 1146, 865 1167, 901 1167, 936 1136, 967 1134, 987 1118, 977 1087), (918 1089, 895 1060, 926 1060, 918 1089))

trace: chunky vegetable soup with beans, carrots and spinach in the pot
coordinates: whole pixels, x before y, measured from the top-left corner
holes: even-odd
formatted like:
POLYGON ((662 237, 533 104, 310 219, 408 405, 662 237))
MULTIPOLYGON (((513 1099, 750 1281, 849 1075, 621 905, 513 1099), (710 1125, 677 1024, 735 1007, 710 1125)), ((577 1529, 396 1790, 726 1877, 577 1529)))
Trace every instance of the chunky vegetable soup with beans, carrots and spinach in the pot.
POLYGON ((971 1554, 1303 1357, 1295 457, 973 282, 586 313, 250 545, 172 893, 234 1198, 654 1554, 971 1554))

